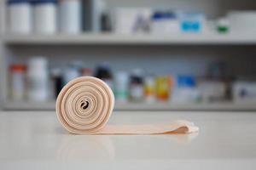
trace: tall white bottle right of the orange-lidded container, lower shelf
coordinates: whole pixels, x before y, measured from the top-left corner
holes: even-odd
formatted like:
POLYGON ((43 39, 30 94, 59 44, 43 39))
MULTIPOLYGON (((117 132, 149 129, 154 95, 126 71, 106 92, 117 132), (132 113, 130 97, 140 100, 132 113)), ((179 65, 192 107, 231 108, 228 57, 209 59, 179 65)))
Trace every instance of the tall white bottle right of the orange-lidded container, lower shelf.
POLYGON ((28 63, 28 99, 46 101, 49 99, 48 62, 44 57, 33 57, 28 63))

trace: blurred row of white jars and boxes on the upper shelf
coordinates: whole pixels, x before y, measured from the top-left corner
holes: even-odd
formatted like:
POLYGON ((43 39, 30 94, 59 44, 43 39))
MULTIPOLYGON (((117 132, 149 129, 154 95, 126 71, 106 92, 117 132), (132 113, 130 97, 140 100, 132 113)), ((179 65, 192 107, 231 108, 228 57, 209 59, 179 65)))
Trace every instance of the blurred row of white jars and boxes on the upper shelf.
MULTIPOLYGON (((253 33, 256 11, 230 11, 207 19, 200 11, 159 8, 108 8, 105 0, 8 0, 8 26, 18 34, 79 34, 112 31, 119 34, 219 32, 253 33)), ((165 7, 166 8, 166 7, 165 7)))

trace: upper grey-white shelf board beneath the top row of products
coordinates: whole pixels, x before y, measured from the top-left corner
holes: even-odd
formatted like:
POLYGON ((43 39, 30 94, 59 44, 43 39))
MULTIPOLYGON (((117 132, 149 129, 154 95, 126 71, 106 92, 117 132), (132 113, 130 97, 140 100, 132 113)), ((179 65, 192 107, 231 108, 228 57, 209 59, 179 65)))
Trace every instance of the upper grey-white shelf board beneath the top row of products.
POLYGON ((177 34, 177 35, 149 35, 149 34, 92 34, 84 33, 81 35, 5 35, 3 42, 8 45, 253 45, 256 44, 255 35, 237 34, 177 34))

